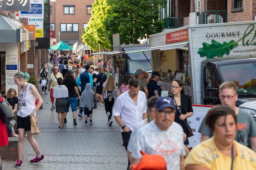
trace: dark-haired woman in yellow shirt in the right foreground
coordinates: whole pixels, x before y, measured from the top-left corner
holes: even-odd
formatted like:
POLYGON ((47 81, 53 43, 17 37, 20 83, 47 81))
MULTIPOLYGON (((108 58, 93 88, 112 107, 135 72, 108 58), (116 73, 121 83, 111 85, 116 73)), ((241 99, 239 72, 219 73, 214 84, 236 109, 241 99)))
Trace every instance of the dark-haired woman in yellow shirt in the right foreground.
POLYGON ((205 120, 214 136, 191 150, 186 170, 256 170, 256 153, 235 141, 236 115, 230 107, 213 107, 205 120))

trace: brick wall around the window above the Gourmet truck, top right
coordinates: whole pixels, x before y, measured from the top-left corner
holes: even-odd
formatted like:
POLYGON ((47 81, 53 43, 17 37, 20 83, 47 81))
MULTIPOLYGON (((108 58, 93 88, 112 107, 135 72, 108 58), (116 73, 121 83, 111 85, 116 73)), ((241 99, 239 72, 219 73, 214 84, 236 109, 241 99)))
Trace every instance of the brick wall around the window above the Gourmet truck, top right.
POLYGON ((228 22, 252 21, 256 15, 256 0, 243 0, 243 10, 233 11, 233 0, 227 1, 228 22))

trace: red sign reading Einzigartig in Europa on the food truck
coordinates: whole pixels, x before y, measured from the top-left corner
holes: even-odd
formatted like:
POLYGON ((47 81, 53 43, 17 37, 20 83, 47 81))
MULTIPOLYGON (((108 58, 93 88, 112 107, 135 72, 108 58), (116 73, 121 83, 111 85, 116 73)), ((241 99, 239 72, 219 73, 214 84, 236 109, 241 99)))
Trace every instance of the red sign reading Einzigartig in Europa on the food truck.
POLYGON ((166 34, 166 44, 180 41, 188 41, 188 29, 182 29, 166 34))

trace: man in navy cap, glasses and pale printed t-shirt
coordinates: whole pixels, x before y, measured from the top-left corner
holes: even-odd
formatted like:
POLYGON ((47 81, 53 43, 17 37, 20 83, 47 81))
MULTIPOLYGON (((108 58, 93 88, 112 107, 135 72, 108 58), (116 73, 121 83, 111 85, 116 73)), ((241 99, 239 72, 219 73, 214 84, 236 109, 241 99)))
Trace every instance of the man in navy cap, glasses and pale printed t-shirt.
POLYGON ((174 122, 175 104, 170 97, 160 97, 156 100, 156 119, 142 127, 136 135, 132 153, 131 166, 142 159, 140 150, 146 154, 159 154, 164 157, 167 169, 184 169, 183 129, 174 122))

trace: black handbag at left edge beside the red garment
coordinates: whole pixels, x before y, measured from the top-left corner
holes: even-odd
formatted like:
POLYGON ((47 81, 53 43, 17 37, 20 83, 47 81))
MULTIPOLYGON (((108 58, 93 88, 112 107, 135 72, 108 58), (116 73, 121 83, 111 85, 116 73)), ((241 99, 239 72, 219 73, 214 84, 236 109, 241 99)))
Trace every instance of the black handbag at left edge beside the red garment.
POLYGON ((0 102, 0 118, 4 123, 9 123, 14 118, 12 107, 6 101, 0 102))

